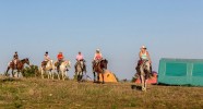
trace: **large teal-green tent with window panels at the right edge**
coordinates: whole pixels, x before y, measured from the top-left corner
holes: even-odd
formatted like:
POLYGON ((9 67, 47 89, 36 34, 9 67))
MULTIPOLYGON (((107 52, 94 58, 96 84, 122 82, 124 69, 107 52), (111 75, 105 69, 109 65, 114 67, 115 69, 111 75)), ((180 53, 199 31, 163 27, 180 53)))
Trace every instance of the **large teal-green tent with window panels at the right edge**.
POLYGON ((158 84, 203 86, 203 59, 160 59, 158 84))

